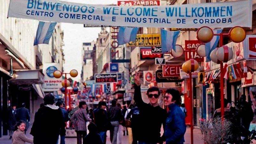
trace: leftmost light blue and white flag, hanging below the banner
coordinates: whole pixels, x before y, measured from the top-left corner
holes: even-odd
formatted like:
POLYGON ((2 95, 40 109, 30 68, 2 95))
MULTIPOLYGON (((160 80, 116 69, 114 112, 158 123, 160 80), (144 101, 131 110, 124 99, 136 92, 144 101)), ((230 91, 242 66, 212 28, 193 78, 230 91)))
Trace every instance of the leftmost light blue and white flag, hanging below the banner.
POLYGON ((57 23, 49 23, 40 21, 36 31, 34 46, 38 44, 49 44, 49 40, 57 23))

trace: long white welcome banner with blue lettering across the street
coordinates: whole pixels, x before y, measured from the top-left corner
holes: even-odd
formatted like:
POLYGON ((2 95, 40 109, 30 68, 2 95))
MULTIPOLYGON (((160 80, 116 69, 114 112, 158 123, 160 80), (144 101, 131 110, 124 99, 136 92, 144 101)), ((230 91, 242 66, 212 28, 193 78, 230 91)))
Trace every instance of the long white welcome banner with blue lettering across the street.
POLYGON ((252 0, 143 7, 11 0, 8 17, 134 27, 252 27, 252 0))

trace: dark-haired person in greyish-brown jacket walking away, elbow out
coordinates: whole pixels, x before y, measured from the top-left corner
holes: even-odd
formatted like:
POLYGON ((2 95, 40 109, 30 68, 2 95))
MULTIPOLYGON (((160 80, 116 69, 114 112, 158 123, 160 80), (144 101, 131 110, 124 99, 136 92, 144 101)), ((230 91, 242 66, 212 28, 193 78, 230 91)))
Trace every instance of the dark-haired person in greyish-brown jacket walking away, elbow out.
POLYGON ((82 138, 87 135, 86 122, 91 119, 86 114, 86 102, 79 102, 79 109, 74 112, 70 120, 75 124, 75 131, 77 132, 77 144, 82 144, 82 138))

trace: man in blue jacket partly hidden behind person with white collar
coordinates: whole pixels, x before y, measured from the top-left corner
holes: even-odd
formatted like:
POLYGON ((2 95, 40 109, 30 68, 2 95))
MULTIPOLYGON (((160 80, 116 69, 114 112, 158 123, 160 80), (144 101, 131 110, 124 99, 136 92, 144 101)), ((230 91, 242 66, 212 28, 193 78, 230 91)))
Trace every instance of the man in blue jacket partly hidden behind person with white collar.
MULTIPOLYGON (((64 108, 63 102, 57 101, 56 106, 58 106, 59 109, 61 110, 64 122, 68 122, 69 121, 68 111, 64 108)), ((65 135, 66 135, 66 129, 65 129, 65 127, 62 127, 61 132, 60 132, 60 136, 61 136, 60 144, 65 144, 65 135)), ((59 141, 59 139, 58 139, 58 141, 59 141)), ((57 143, 58 143, 58 141, 57 141, 57 143)))

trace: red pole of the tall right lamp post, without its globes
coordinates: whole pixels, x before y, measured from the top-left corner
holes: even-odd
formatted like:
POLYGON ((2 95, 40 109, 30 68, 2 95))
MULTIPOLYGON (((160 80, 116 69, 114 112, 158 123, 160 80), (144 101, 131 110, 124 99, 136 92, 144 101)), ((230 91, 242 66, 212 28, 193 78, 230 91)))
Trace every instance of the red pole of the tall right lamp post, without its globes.
MULTIPOLYGON (((223 33, 220 33, 220 47, 223 46, 223 33)), ((220 97, 221 97, 221 119, 224 116, 224 74, 223 74, 223 62, 220 62, 220 97)))

